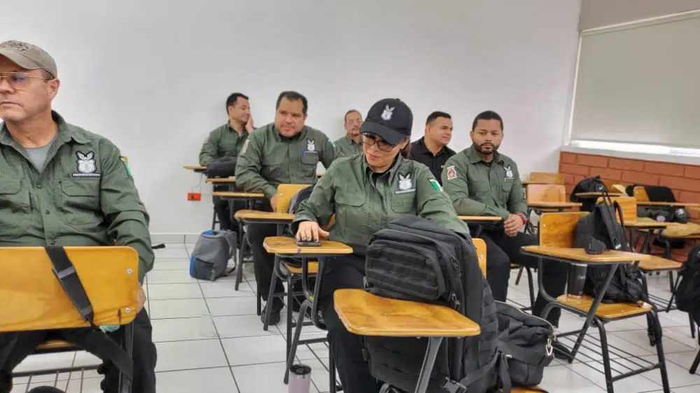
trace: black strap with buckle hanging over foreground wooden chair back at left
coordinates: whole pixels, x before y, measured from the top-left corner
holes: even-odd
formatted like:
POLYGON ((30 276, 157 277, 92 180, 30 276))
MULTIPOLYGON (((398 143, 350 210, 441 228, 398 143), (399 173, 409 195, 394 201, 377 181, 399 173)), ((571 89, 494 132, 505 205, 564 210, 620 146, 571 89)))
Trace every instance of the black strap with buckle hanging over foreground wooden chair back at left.
POLYGON ((68 298, 71 299, 80 316, 83 317, 85 322, 90 324, 88 329, 62 330, 62 335, 66 341, 80 346, 80 348, 91 352, 100 359, 111 361, 124 376, 132 380, 134 368, 132 357, 94 324, 92 303, 87 298, 85 288, 80 283, 76 267, 73 266, 66 254, 66 250, 59 245, 48 245, 44 249, 53 264, 54 276, 61 284, 61 287, 63 287, 68 298))

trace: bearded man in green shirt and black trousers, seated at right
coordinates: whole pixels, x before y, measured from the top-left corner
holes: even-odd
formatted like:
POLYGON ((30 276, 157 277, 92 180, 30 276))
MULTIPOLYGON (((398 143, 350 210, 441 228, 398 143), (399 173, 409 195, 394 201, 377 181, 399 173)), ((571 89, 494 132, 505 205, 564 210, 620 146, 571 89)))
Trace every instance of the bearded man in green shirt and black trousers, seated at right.
MULTIPOLYGON (((472 146, 447 160, 442 170, 442 185, 458 215, 496 215, 498 224, 484 225, 480 238, 486 242, 486 280, 493 298, 505 301, 510 278, 510 263, 537 268, 537 259, 521 255, 520 248, 537 245, 537 238, 520 230, 526 223, 527 204, 515 162, 498 152, 503 141, 503 119, 492 110, 479 113, 470 132, 472 146)), ((542 284, 551 296, 563 294, 566 264, 545 261, 542 284)), ((538 295, 533 314, 540 315, 547 305, 538 295)), ((547 319, 559 325, 559 308, 547 319)))

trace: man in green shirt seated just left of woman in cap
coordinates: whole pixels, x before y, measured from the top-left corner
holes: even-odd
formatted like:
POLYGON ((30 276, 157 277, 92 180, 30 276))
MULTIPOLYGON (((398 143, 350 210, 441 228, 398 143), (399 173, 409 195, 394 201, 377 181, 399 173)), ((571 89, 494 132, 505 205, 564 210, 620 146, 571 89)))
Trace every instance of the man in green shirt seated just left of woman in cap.
MULTIPOLYGON (((314 184, 316 167, 321 162, 325 168, 335 159, 335 149, 323 132, 304 125, 309 104, 306 97, 297 92, 281 92, 277 97, 274 123, 255 130, 241 150, 236 165, 236 184, 246 192, 262 192, 265 203, 258 203, 257 210, 274 211, 277 206, 277 186, 281 184, 314 184)), ((253 249, 255 280, 258 293, 267 299, 274 269, 274 255, 265 251, 262 241, 275 236, 275 224, 249 224, 248 240, 253 249)), ((283 292, 281 280, 273 288, 283 292)), ((274 299, 269 324, 279 322, 284 304, 274 299)), ((262 312, 262 318, 265 311, 262 312)))

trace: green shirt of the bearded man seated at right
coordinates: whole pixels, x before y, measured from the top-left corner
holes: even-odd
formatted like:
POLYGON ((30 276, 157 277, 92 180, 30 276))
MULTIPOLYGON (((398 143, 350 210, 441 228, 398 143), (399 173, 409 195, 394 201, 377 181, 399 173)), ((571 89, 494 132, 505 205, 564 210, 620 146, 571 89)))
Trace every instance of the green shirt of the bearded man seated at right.
POLYGON ((526 214, 527 204, 515 162, 498 152, 490 163, 473 146, 450 157, 442 169, 442 187, 459 215, 526 214))

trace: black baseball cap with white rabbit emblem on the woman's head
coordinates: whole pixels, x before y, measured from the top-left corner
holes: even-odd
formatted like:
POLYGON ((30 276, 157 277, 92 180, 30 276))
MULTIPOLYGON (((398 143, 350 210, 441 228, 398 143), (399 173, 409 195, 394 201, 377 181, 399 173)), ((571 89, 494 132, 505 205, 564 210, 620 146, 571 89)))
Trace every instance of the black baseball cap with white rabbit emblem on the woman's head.
POLYGON ((376 134, 390 145, 411 137, 413 113, 400 99, 381 99, 367 112, 360 132, 376 134))

